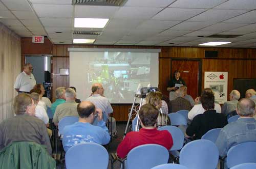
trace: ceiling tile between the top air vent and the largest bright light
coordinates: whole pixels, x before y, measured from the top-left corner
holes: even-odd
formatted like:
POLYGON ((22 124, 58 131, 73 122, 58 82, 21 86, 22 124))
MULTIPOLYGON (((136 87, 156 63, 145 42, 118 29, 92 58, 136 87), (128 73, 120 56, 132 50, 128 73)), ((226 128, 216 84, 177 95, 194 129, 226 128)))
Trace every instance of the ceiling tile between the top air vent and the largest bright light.
POLYGON ((75 18, 111 18, 119 7, 112 6, 75 6, 75 18))

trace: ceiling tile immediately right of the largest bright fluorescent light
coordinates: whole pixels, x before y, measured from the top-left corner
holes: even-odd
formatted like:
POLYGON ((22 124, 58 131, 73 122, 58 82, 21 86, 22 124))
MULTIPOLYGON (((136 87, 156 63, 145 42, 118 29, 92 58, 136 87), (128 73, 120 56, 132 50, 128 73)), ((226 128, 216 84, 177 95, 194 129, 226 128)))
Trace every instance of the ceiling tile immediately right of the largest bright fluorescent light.
POLYGON ((106 25, 105 29, 132 29, 137 27, 143 20, 121 20, 121 19, 112 19, 106 25))

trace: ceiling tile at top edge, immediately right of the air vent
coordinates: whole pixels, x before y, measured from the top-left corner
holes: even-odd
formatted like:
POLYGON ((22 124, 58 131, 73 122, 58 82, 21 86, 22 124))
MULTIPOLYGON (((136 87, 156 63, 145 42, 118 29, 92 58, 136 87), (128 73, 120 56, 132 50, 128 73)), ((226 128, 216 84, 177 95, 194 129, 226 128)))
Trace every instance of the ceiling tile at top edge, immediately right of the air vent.
POLYGON ((129 0, 125 3, 125 7, 167 7, 175 0, 129 0))

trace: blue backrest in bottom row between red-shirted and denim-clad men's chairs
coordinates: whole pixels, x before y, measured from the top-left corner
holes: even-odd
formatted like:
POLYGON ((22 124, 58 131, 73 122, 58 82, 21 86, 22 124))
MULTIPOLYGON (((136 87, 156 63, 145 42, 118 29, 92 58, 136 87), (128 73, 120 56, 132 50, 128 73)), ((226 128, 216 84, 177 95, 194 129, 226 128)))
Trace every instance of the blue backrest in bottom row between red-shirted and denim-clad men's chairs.
POLYGON ((180 164, 190 169, 216 169, 218 160, 217 146, 206 139, 189 142, 180 151, 180 164))

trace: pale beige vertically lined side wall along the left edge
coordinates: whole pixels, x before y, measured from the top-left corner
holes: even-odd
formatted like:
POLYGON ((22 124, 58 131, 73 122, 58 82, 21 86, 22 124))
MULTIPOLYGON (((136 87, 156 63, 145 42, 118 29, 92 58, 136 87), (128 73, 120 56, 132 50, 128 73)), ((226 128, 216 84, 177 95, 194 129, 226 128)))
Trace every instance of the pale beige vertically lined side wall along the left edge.
POLYGON ((14 82, 21 69, 20 37, 0 23, 0 123, 13 117, 14 82))

